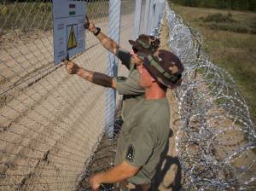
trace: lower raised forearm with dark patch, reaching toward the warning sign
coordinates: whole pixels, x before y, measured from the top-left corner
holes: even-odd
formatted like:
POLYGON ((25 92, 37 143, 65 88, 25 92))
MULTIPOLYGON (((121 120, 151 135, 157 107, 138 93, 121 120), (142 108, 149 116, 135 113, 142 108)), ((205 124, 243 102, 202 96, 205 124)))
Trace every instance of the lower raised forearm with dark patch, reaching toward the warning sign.
POLYGON ((79 75, 79 77, 84 78, 93 84, 115 89, 115 82, 113 78, 109 77, 104 73, 91 72, 80 67, 77 74, 79 75))

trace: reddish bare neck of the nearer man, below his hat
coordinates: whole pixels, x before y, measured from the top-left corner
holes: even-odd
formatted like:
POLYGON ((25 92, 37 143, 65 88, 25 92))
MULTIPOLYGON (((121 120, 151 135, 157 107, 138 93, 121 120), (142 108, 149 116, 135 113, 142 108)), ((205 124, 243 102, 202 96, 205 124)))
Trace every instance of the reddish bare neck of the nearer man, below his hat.
POLYGON ((158 84, 153 84, 145 90, 146 100, 159 100, 166 97, 166 90, 162 90, 158 84))

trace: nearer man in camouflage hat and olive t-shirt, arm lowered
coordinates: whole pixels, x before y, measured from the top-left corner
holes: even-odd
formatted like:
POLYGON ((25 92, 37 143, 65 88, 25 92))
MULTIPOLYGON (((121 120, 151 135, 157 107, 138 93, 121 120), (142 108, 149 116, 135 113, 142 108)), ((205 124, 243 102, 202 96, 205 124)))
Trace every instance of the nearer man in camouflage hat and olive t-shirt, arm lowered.
POLYGON ((183 65, 176 55, 159 50, 146 55, 137 70, 145 99, 138 101, 127 115, 119 135, 114 167, 90 177, 93 190, 107 182, 119 182, 122 191, 131 187, 149 190, 160 154, 166 147, 170 130, 166 90, 181 83, 183 65))

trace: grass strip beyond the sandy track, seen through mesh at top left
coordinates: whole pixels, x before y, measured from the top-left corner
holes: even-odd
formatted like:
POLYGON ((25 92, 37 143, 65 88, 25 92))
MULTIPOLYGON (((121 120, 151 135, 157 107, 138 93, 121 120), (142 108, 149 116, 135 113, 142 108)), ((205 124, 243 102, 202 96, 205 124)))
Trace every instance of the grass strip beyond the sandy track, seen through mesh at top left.
MULTIPOLYGON (((87 3, 87 14, 91 20, 108 17, 108 1, 87 3)), ((4 3, 0 1, 0 35, 9 30, 21 32, 52 30, 52 3, 36 0, 31 3, 4 3)))

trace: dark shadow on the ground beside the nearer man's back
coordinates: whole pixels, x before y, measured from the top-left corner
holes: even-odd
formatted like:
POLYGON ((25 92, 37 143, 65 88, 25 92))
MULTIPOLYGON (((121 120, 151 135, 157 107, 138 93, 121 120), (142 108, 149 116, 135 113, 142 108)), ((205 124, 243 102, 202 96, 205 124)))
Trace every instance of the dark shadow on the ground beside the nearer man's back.
MULTIPOLYGON (((172 137, 172 136, 173 136, 173 132, 170 129, 169 137, 172 137)), ((161 153, 160 163, 156 167, 156 172, 153 177, 153 181, 151 185, 152 191, 159 190, 158 188, 160 186, 160 183, 163 182, 167 171, 171 169, 172 165, 177 165, 177 171, 174 174, 175 177, 172 178, 173 180, 172 182, 169 182, 168 185, 164 185, 164 187, 167 189, 170 188, 170 190, 172 188, 172 191, 181 190, 181 178, 182 178, 181 165, 177 157, 172 157, 167 155, 168 150, 169 150, 169 139, 168 139, 168 142, 166 143, 165 150, 163 151, 163 153, 161 153)))

